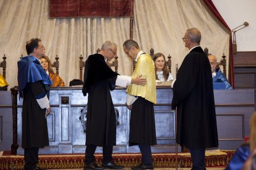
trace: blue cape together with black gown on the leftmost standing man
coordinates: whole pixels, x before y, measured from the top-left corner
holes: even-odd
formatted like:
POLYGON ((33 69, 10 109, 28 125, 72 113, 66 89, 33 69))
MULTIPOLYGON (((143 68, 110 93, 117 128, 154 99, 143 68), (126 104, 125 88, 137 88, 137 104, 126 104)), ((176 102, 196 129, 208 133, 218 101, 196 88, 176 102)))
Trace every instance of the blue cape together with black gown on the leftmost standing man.
POLYGON ((43 148, 49 145, 46 108, 41 109, 36 99, 48 96, 51 79, 33 55, 18 62, 18 84, 22 105, 22 148, 43 148))

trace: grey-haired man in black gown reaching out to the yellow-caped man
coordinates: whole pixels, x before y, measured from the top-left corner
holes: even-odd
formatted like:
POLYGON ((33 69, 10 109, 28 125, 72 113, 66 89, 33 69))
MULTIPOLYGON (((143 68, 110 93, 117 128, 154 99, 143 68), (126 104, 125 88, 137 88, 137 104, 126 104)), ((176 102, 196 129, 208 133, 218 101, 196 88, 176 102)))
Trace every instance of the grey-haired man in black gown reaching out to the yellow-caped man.
POLYGON ((122 169, 113 162, 113 145, 116 144, 116 115, 110 91, 115 86, 126 87, 129 84, 145 85, 146 79, 121 76, 106 64, 116 56, 117 45, 106 41, 98 54, 90 55, 85 62, 83 77, 83 95, 88 94, 87 132, 85 165, 83 169, 122 169), (103 147, 103 168, 95 163, 96 147, 103 147))

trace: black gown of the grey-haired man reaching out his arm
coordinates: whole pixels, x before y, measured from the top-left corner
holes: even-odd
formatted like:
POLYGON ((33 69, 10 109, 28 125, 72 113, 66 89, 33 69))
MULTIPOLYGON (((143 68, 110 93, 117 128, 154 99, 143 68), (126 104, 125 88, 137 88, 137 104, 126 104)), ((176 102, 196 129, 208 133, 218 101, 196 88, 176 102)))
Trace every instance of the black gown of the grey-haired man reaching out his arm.
POLYGON ((110 91, 114 90, 117 73, 103 55, 90 55, 85 62, 83 95, 88 94, 86 145, 114 145, 116 119, 110 91))

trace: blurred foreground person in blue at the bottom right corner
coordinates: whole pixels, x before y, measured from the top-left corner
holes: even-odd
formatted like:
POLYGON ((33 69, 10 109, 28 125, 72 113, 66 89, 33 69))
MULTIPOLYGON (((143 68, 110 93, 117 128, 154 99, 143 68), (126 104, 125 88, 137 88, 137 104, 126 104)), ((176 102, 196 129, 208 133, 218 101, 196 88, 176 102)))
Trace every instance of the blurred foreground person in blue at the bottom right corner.
MULTIPOLYGON (((256 111, 250 117, 250 137, 244 142, 239 148, 237 148, 236 153, 233 155, 232 159, 229 161, 227 170, 242 169, 245 161, 247 164, 252 161, 254 155, 254 150, 256 148, 256 111), (250 154, 252 153, 252 154, 250 154), (251 156, 250 156, 251 155, 251 156)), ((246 165, 248 166, 248 165, 246 165)))

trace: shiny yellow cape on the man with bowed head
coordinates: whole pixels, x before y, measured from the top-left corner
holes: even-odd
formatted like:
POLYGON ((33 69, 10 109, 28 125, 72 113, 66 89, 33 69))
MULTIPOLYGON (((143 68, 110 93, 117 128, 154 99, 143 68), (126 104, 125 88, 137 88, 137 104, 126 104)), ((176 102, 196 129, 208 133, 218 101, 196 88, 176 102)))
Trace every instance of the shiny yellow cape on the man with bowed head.
POLYGON ((136 78, 139 75, 147 79, 147 84, 145 86, 130 84, 126 92, 130 95, 140 96, 152 103, 156 103, 155 65, 151 56, 148 54, 142 54, 138 57, 132 78, 136 78))

